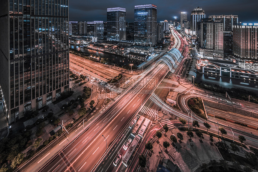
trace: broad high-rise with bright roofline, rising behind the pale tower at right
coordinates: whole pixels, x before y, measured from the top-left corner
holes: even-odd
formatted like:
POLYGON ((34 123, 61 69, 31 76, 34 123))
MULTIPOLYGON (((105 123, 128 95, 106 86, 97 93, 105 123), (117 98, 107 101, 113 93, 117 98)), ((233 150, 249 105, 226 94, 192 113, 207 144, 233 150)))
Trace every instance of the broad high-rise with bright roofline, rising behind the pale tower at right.
POLYGON ((214 21, 222 21, 224 24, 224 31, 232 31, 233 25, 238 23, 238 16, 233 15, 220 15, 220 16, 209 16, 214 21))

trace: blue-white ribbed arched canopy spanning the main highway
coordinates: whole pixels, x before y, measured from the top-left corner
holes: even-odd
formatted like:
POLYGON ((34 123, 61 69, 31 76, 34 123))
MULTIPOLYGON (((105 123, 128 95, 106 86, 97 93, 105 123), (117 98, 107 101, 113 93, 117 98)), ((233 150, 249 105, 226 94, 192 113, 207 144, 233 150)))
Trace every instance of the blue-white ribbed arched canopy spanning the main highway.
POLYGON ((168 53, 166 53, 163 57, 161 57, 156 62, 156 64, 161 61, 165 62, 168 65, 170 71, 172 71, 173 67, 175 67, 177 61, 180 59, 181 56, 182 55, 178 49, 172 48, 168 53))

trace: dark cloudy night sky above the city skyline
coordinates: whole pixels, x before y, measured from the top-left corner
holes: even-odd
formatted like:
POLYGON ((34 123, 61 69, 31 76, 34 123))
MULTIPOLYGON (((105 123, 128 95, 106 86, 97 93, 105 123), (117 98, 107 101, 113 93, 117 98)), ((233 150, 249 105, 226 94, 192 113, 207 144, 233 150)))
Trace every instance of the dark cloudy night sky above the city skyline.
POLYGON ((190 21, 191 11, 201 7, 205 17, 209 15, 238 15, 243 23, 258 23, 257 0, 69 0, 70 21, 107 21, 107 8, 126 8, 126 21, 134 21, 134 5, 157 5, 157 21, 180 19, 180 12, 187 11, 190 21))

